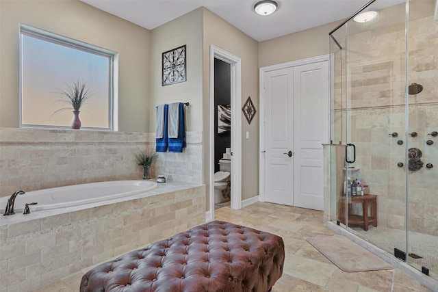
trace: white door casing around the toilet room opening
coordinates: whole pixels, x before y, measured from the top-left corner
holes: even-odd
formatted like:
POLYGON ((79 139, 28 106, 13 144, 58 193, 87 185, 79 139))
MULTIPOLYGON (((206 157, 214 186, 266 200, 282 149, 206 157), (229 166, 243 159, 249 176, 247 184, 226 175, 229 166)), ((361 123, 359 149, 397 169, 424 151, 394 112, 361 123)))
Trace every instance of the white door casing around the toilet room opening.
POLYGON ((240 108, 242 107, 241 61, 218 47, 210 45, 209 52, 209 207, 207 221, 214 219, 214 173, 215 173, 215 112, 214 103, 214 59, 219 59, 230 65, 230 100, 231 100, 231 209, 240 209, 242 205, 242 120, 240 108))

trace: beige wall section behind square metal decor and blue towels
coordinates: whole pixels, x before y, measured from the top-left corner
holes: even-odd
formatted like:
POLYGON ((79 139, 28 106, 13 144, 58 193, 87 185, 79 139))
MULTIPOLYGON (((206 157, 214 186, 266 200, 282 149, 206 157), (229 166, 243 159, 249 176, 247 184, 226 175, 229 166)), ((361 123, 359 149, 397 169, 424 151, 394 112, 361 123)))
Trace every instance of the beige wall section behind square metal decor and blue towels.
MULTIPOLYGON (((189 102, 185 107, 186 131, 203 131, 203 10, 189 12, 152 31, 151 99, 149 103, 150 132, 155 132, 156 107, 162 103, 189 102), (162 53, 187 46, 187 81, 162 86, 162 53)), ((147 66, 147 65, 146 65, 147 66)))

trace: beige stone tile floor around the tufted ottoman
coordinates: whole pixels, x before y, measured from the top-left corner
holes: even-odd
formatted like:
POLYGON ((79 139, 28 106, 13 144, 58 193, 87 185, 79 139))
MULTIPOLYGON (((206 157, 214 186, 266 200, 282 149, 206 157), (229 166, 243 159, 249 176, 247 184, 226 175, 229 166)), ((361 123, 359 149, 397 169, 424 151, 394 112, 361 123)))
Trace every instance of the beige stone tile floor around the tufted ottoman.
MULTIPOLYGON (((280 235, 285 241, 283 276, 272 292, 430 291, 399 269, 346 273, 315 250, 305 238, 334 235, 322 224, 322 212, 257 202, 240 210, 223 207, 216 220, 257 228, 280 235)), ((87 271, 84 269, 83 271, 87 271)), ((34 291, 79 291, 83 271, 51 282, 34 291)))

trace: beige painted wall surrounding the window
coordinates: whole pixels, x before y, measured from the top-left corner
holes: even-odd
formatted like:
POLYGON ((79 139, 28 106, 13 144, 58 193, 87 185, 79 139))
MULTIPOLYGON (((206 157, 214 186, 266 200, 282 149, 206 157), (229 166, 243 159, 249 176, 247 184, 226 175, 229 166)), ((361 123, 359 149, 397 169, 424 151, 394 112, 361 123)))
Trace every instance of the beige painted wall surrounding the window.
POLYGON ((119 53, 119 131, 149 129, 151 31, 80 1, 0 1, 0 127, 19 125, 19 24, 119 53))

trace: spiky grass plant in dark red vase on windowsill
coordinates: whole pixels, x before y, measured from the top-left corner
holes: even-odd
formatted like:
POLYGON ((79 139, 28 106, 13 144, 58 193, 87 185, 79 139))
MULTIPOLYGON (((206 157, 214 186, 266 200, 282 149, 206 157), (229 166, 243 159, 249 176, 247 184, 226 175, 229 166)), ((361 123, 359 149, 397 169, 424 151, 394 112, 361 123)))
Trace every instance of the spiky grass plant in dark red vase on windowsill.
POLYGON ((63 107, 58 109, 53 114, 58 111, 64 111, 66 109, 73 109, 73 120, 71 122, 72 129, 81 129, 81 120, 79 119, 79 113, 81 112, 81 107, 90 99, 92 94, 88 88, 86 82, 74 81, 72 83, 66 83, 66 89, 60 90, 58 92, 61 96, 58 101, 66 103, 71 107, 63 107))

